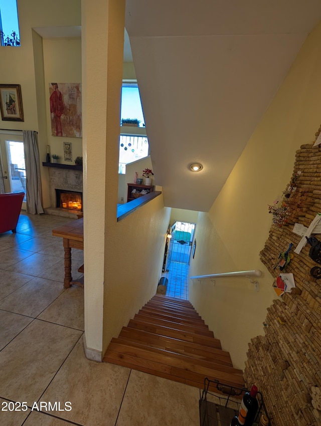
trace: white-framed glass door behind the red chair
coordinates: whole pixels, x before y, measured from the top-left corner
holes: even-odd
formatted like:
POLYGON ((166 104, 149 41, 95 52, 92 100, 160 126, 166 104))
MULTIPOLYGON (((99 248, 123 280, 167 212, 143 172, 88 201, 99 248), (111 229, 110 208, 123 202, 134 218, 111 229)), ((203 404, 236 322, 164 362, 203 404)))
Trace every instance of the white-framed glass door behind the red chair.
POLYGON ((6 192, 25 192, 22 208, 26 209, 26 164, 22 135, 0 134, 0 160, 6 192))

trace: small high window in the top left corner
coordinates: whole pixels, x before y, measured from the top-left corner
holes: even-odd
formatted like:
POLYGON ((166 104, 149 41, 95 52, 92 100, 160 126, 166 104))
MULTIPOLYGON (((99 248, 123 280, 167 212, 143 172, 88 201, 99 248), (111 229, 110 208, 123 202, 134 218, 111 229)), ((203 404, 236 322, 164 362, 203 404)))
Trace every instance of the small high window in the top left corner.
POLYGON ((20 46, 17 0, 0 0, 0 46, 20 46))

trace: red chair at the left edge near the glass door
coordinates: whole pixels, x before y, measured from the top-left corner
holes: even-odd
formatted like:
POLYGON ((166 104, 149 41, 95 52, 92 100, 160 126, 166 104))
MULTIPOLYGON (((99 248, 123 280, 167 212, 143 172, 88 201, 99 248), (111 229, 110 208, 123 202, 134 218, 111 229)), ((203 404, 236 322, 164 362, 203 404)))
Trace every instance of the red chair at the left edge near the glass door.
POLYGON ((16 232, 24 196, 24 192, 0 194, 0 234, 16 232))

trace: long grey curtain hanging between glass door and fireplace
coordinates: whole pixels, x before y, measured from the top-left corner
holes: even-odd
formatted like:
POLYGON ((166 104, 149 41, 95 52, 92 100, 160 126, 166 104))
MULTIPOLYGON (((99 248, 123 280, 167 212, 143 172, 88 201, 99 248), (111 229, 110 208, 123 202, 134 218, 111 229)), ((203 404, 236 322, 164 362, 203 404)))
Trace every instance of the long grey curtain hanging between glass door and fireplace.
POLYGON ((37 132, 33 130, 23 130, 23 137, 26 162, 27 212, 36 215, 44 212, 41 202, 40 160, 37 132))

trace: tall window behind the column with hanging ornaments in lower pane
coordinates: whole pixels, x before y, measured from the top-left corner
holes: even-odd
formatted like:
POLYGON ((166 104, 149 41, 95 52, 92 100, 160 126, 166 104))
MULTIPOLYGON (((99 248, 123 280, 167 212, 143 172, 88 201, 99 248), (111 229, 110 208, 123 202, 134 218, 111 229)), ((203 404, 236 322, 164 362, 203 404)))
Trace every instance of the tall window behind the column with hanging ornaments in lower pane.
MULTIPOLYGON (((121 118, 137 118, 140 121, 139 127, 144 127, 144 116, 140 103, 140 96, 137 83, 124 82, 121 91, 121 118)), ((137 161, 148 156, 148 139, 145 129, 141 129, 141 134, 130 134, 131 127, 123 126, 119 137, 119 166, 118 173, 126 172, 126 164, 137 161)))

